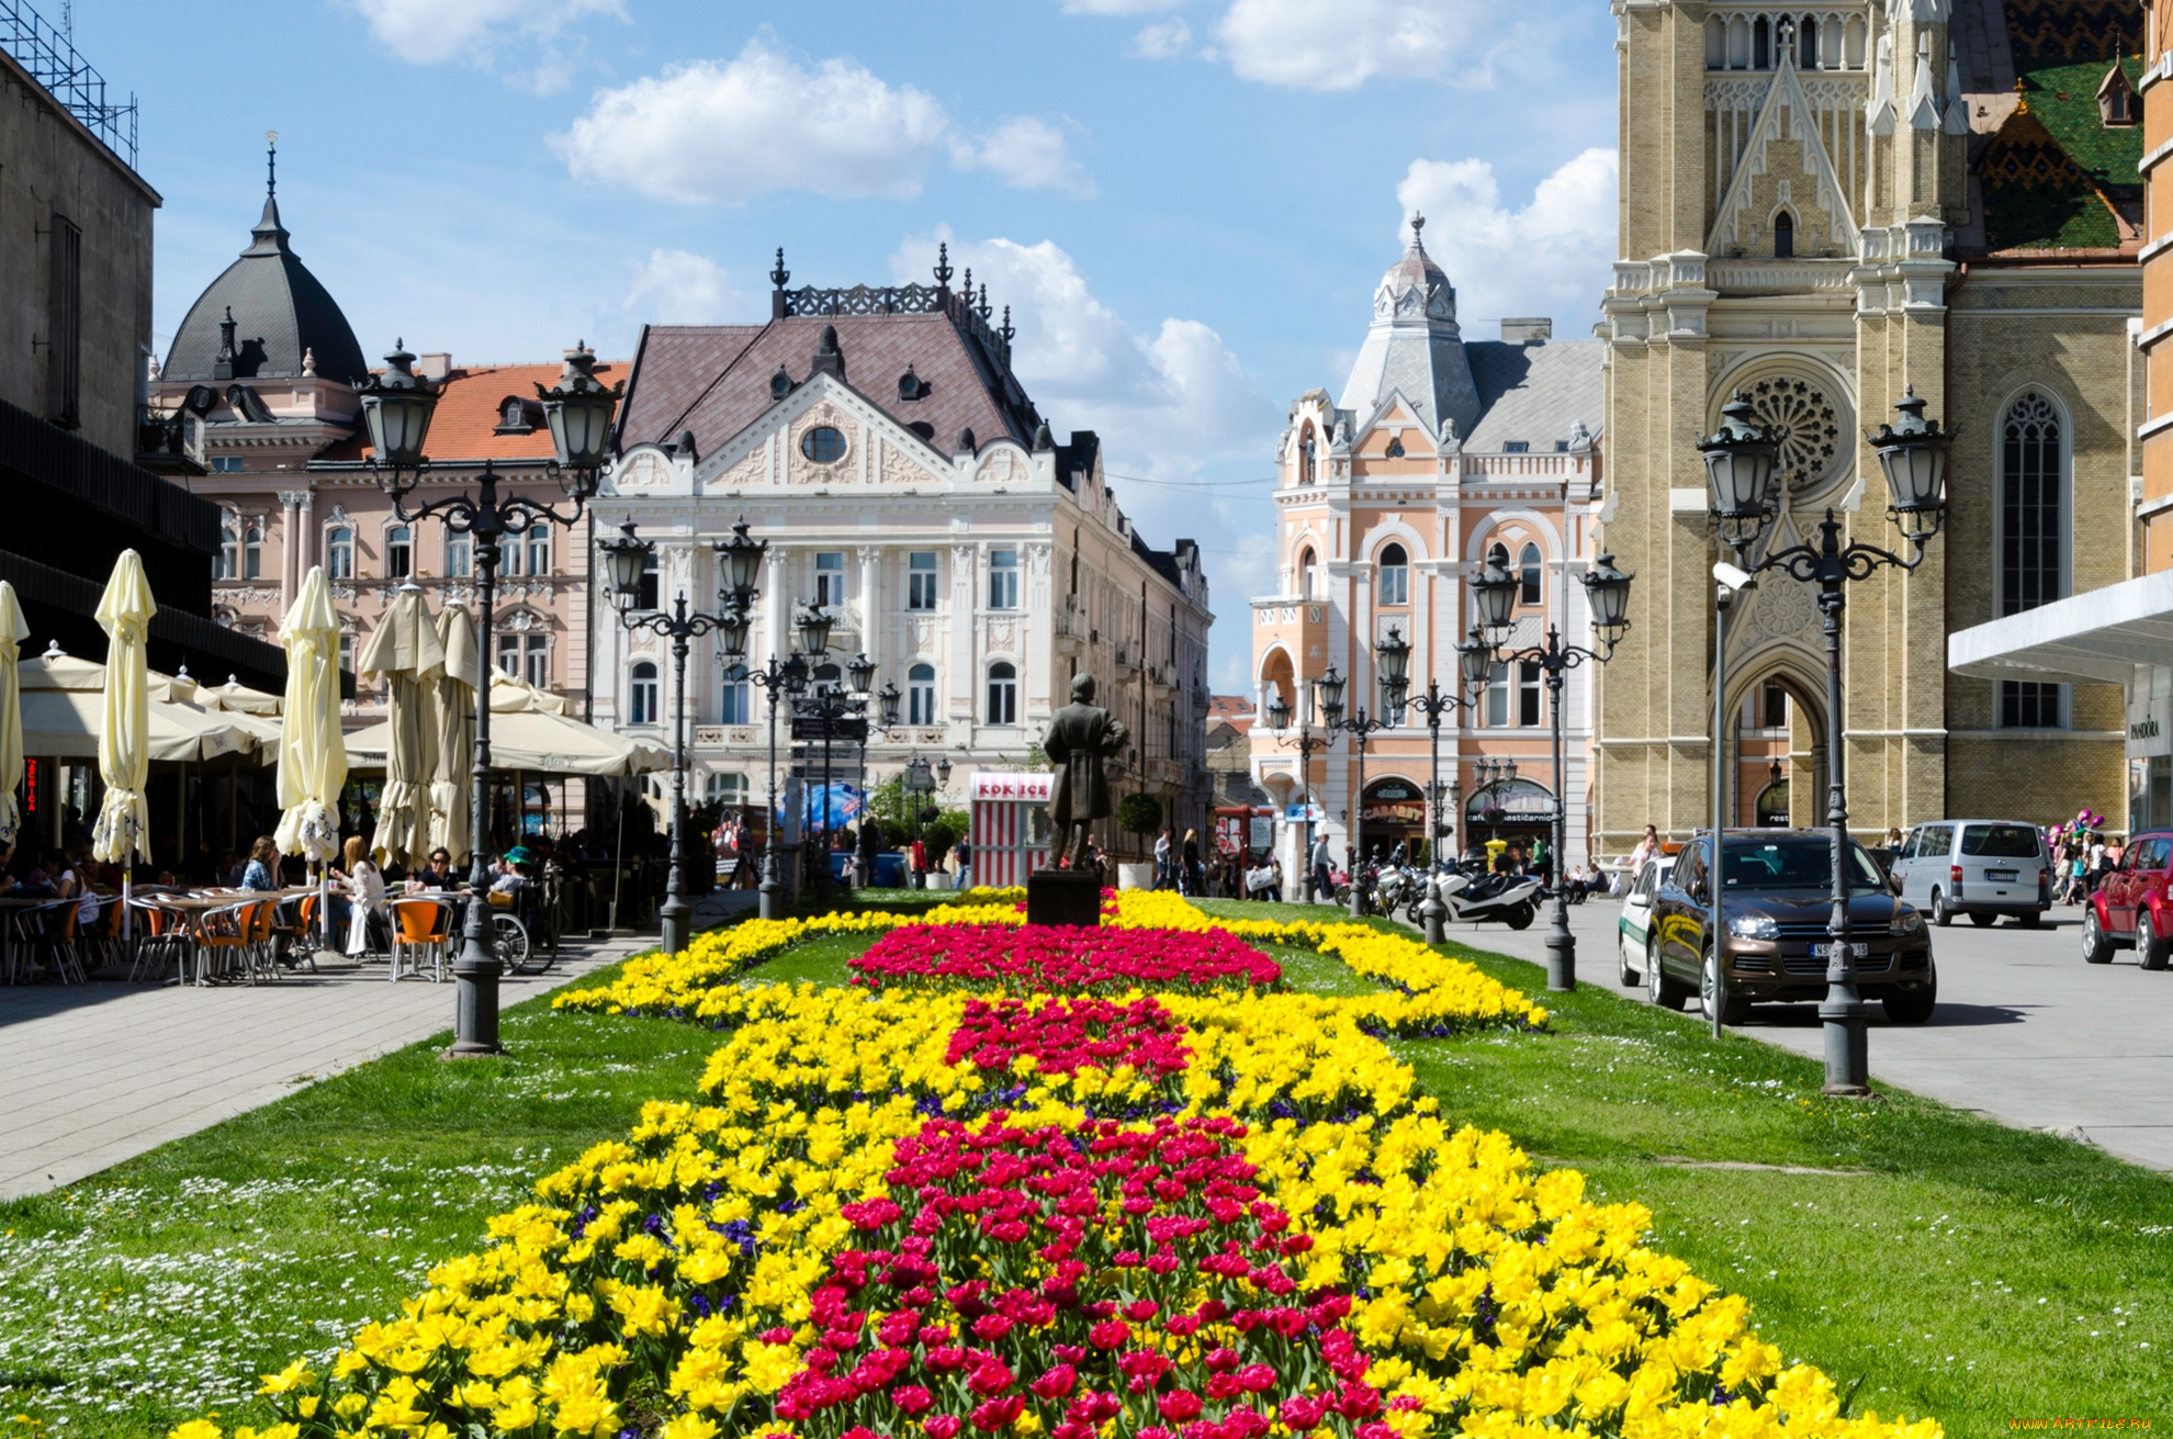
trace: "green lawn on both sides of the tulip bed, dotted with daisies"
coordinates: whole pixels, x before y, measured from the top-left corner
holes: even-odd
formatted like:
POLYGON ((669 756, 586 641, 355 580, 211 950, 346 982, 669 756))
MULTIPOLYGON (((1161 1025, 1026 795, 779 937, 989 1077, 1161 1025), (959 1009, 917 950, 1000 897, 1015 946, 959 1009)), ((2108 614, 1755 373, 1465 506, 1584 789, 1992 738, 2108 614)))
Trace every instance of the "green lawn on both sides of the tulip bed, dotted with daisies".
MULTIPOLYGON (((745 983, 843 983, 871 939, 811 941, 745 983)), ((1369 987, 1310 950, 1276 954, 1304 989, 1369 987)), ((1465 954, 1543 989, 1536 965, 1465 954)), ((1856 1411, 1949 1435, 2173 1422, 2173 1176, 1906 1093, 1832 1102, 1814 1061, 1597 989, 1547 1004, 1545 1037, 1395 1048, 1452 1117, 1649 1204, 1660 1248, 1749 1296, 1788 1359, 1856 1385, 1856 1411)), ((537 1002, 504 1033, 508 1061, 448 1065, 432 1039, 0 1206, 0 1439, 30 1428, 13 1413, 115 1439, 202 1409, 263 1422, 256 1372, 398 1309, 535 1176, 624 1135, 641 1100, 689 1096, 715 1048, 693 1026, 537 1002)))

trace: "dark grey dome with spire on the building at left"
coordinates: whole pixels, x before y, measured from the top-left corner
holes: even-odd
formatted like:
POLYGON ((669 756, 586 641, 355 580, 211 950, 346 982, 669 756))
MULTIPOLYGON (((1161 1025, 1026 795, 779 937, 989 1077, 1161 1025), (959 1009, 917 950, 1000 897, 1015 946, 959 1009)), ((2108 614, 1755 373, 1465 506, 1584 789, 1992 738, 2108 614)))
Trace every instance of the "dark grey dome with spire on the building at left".
POLYGON ((276 193, 265 196, 250 237, 241 259, 189 306, 161 378, 293 378, 311 356, 317 376, 361 385, 369 374, 363 348, 330 291, 287 248, 276 193))

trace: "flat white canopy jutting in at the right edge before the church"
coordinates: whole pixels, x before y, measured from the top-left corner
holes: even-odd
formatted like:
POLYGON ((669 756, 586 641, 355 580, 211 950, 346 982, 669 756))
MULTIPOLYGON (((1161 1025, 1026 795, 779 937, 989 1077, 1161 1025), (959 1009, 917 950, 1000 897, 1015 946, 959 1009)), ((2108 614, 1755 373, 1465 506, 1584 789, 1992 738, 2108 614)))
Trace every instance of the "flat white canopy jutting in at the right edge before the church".
POLYGON ((2173 665, 2173 570, 1947 637, 1947 667, 1973 680, 2127 685, 2136 665, 2173 665))

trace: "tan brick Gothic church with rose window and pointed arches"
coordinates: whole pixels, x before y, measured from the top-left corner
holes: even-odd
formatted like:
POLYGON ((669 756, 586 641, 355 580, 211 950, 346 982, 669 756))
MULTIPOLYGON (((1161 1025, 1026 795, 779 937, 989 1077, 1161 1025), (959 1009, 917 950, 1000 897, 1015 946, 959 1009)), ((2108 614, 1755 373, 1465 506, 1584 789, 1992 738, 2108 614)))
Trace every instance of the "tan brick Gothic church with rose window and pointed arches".
MULTIPOLYGON (((1851 828, 2123 813, 2117 687, 1949 676, 1945 637, 2138 572, 2140 9, 1612 11, 1621 259, 1599 326, 1602 543, 1636 591, 1599 676, 1595 848, 1708 822, 1710 567, 1725 548, 1691 439, 1734 391, 1782 439, 1773 546, 1814 539, 1832 509, 1849 537, 1901 548, 1864 430, 1914 387, 1958 433, 1923 565, 1849 585, 1851 828)), ((1823 822, 1830 715, 1808 585, 1767 576, 1738 609, 1725 700, 1738 817, 1778 793, 1793 824, 1823 822), (1782 767, 1754 804, 1767 750, 1782 767)))

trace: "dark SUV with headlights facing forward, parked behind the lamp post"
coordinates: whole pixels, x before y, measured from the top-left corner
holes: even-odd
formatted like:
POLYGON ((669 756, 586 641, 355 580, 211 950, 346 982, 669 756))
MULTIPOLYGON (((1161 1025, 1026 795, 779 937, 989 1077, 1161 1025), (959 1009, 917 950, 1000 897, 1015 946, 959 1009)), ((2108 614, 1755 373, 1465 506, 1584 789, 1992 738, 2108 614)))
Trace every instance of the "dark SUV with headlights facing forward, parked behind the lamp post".
MULTIPOLYGON (((1825 830, 1730 830, 1721 846, 1721 919, 1714 956, 1706 937, 1710 833, 1675 856, 1651 904, 1645 991, 1654 1004, 1682 1009, 1699 993, 1714 1002, 1717 963, 1728 965, 1723 1024, 1743 1024, 1760 1002, 1825 998, 1825 926, 1832 915, 1832 837, 1825 830)), ((1849 946, 1856 985, 1880 1000, 1895 1024, 1923 1024, 1938 1002, 1932 935, 1912 904, 1849 841, 1849 946)))

